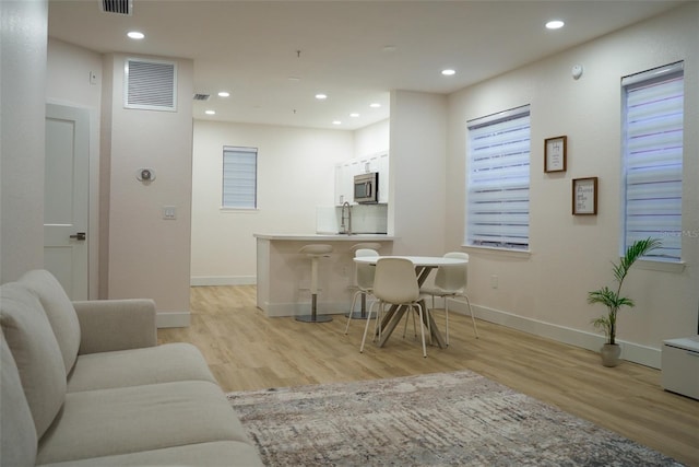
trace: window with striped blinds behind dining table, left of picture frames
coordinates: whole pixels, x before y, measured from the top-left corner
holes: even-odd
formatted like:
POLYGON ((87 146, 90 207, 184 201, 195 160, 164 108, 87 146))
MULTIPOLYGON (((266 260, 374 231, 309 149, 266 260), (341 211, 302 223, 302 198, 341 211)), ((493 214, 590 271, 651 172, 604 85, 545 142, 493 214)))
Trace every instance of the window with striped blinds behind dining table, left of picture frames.
POLYGON ((529 105, 469 126, 466 244, 529 248, 529 105))

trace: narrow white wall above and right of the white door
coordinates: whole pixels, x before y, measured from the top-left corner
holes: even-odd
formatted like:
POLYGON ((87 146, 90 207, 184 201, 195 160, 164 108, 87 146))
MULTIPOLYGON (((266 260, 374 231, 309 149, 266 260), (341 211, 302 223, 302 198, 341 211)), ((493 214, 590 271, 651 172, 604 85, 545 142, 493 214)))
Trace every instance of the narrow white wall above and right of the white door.
POLYGON ((102 55, 49 38, 46 102, 85 108, 90 113, 90 248, 91 299, 98 296, 99 253, 99 119, 102 112, 102 55), (96 75, 94 83, 90 73, 96 75))

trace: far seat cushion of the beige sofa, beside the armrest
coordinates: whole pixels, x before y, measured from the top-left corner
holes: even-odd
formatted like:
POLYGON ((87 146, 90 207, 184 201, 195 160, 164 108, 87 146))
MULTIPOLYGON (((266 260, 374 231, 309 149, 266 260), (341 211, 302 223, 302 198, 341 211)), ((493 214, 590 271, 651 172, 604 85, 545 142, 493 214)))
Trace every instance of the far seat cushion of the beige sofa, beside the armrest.
POLYGON ((80 355, 68 380, 68 392, 176 381, 216 383, 201 352, 182 342, 80 355))

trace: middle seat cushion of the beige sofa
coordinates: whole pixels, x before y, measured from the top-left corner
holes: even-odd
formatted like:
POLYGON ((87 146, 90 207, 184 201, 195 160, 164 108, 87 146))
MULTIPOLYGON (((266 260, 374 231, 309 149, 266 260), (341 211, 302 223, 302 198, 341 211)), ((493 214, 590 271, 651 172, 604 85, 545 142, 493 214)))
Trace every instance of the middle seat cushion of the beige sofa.
POLYGON ((68 393, 37 464, 214 441, 249 442, 221 388, 178 382, 68 393))

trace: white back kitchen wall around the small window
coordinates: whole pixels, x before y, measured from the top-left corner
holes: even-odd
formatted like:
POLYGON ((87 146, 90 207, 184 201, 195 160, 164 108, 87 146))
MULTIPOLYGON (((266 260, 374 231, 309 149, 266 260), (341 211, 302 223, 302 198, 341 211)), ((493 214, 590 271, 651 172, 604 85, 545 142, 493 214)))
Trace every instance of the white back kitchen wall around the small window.
POLYGON ((316 207, 333 206, 334 165, 353 133, 194 120, 192 284, 254 283, 256 233, 316 231, 316 207), (224 145, 258 148, 258 209, 222 210, 224 145))

